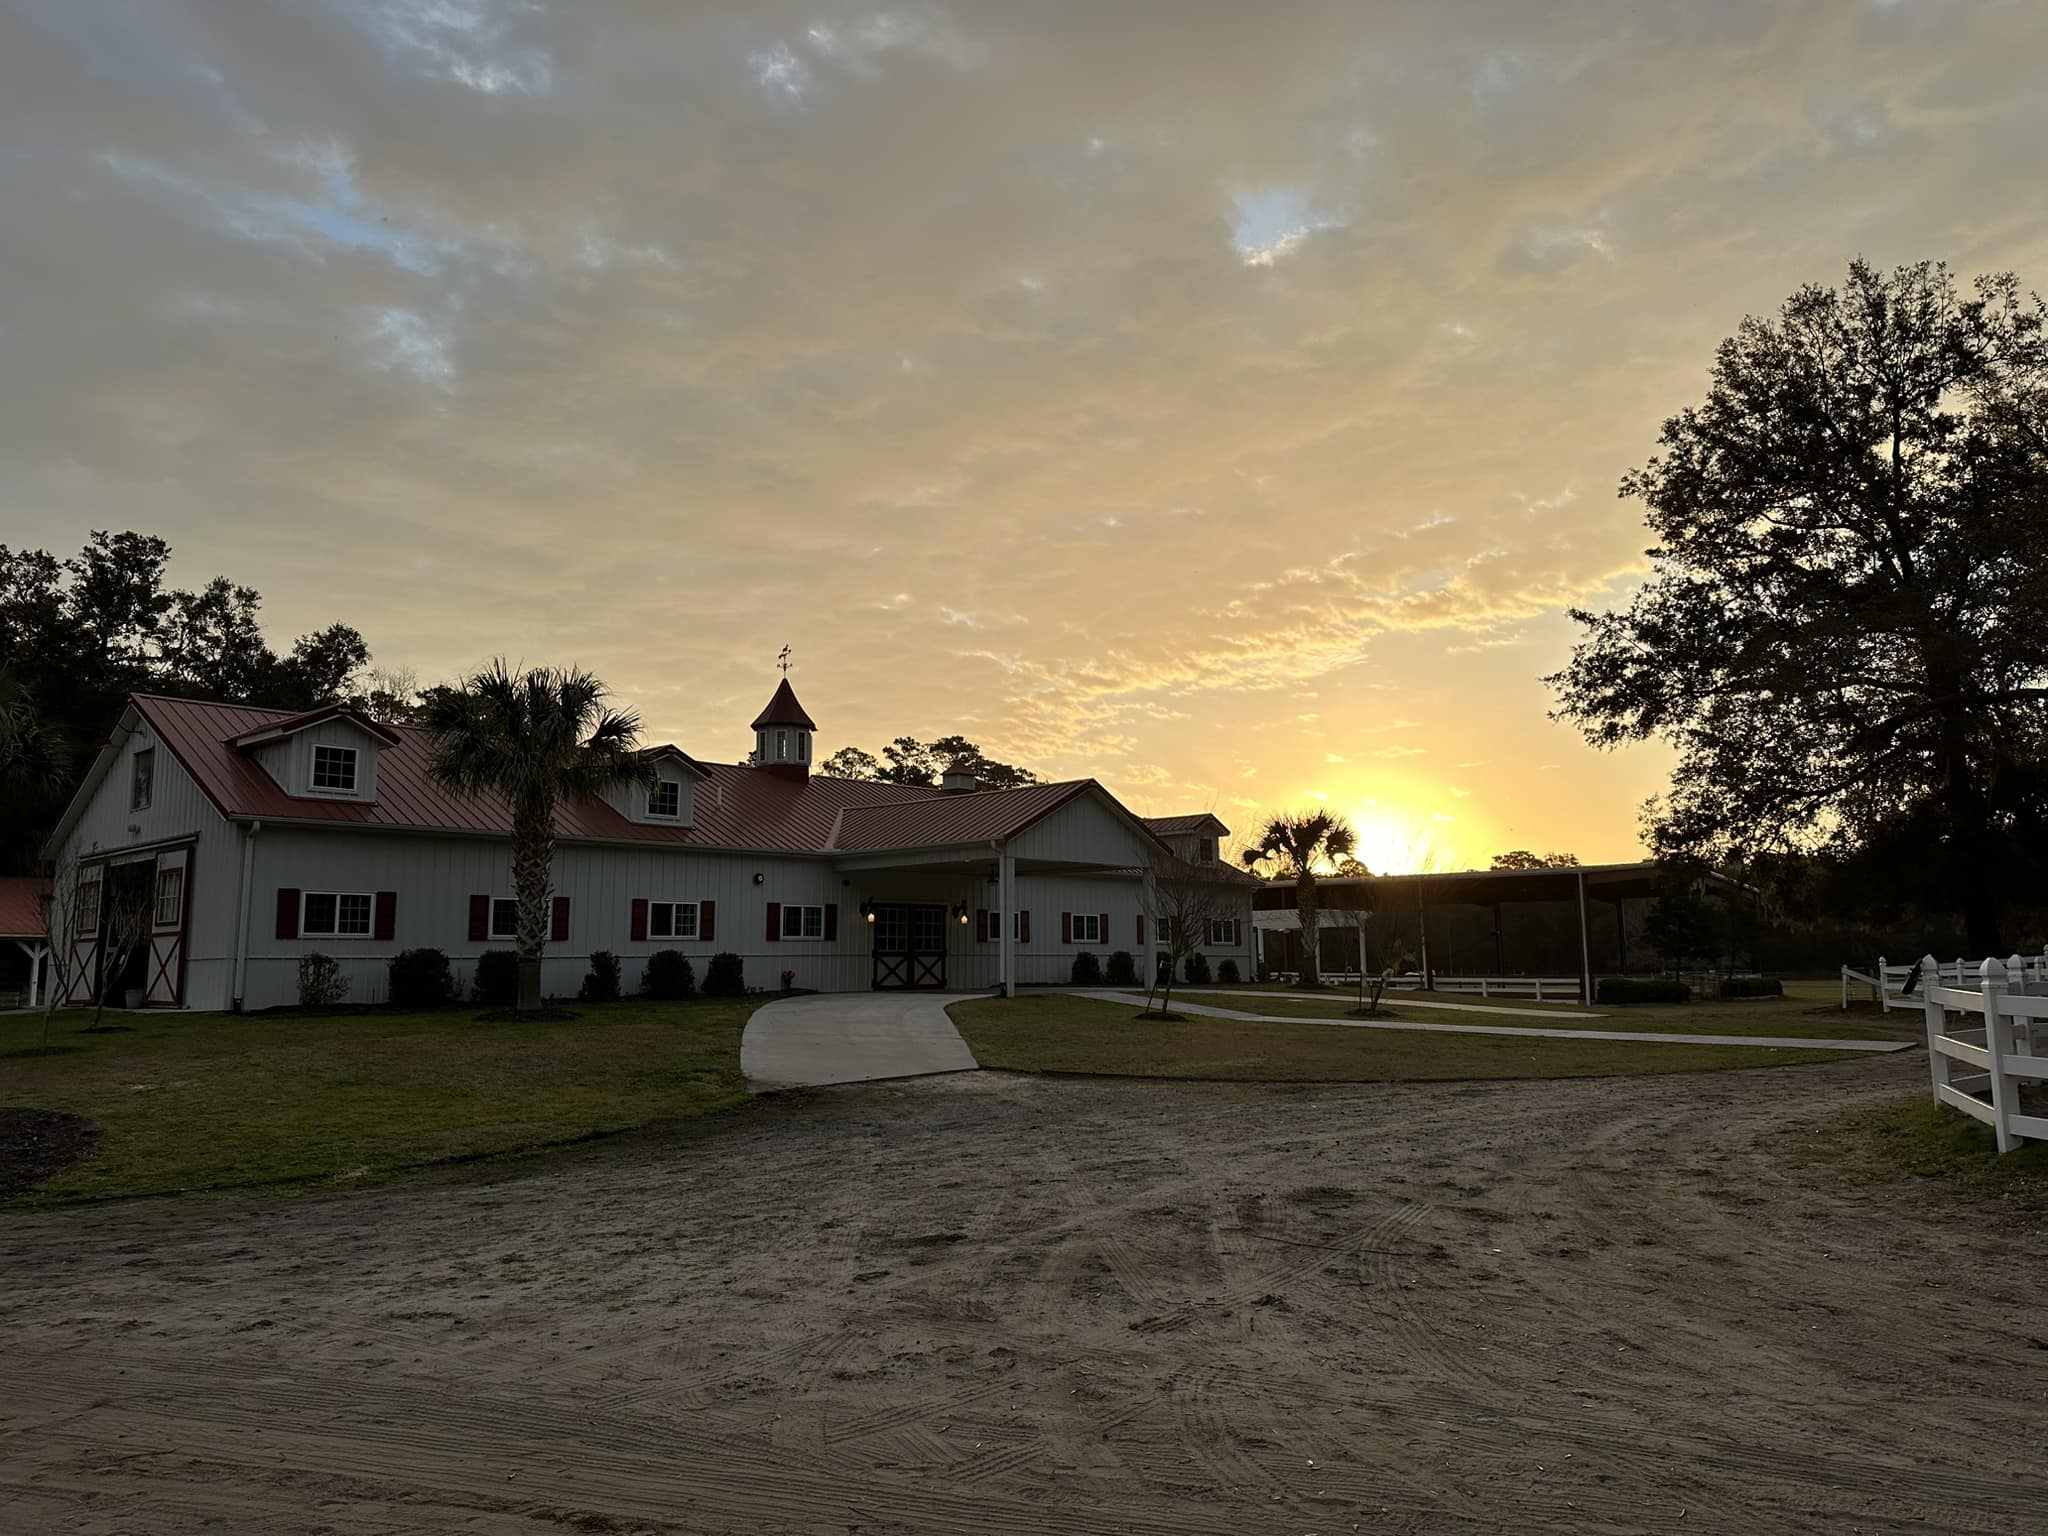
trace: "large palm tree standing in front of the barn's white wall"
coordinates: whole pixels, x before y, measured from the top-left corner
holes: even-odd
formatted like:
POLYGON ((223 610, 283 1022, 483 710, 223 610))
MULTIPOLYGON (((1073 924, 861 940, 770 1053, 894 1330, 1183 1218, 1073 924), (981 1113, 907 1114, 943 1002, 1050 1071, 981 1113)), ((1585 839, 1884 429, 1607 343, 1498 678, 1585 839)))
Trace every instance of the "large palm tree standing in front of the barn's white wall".
POLYGON ((608 692, 578 668, 514 676, 504 662, 459 688, 430 690, 420 725, 434 737, 432 774, 463 795, 512 809, 518 897, 518 1012, 541 1008, 541 946, 555 872, 555 807, 647 778, 639 717, 604 707, 608 692))

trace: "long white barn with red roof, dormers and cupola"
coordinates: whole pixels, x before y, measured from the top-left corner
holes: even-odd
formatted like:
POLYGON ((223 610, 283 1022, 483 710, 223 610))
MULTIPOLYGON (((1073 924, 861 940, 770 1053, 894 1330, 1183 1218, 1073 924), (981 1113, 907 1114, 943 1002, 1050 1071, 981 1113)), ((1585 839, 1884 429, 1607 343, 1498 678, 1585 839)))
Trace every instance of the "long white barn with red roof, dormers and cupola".
MULTIPOLYGON (((1257 883, 1217 860, 1214 817, 1147 823, 1092 778, 825 778, 786 678, 752 729, 750 762, 653 748, 651 788, 563 807, 547 995, 575 995, 594 950, 621 956, 627 991, 666 948, 698 975, 731 950, 750 989, 1065 983, 1079 950, 1128 950, 1143 975, 1163 854, 1231 885, 1241 915, 1212 924, 1204 952, 1251 977, 1257 883)), ((104 913, 139 903, 147 934, 111 979, 117 1001, 293 1004, 315 950, 340 961, 350 1001, 383 1001, 408 948, 444 950, 467 985, 483 950, 514 946, 510 813, 438 786, 430 752, 422 731, 342 705, 131 698, 45 848, 59 872, 76 866, 76 920, 57 936, 68 999, 100 985, 104 913)))

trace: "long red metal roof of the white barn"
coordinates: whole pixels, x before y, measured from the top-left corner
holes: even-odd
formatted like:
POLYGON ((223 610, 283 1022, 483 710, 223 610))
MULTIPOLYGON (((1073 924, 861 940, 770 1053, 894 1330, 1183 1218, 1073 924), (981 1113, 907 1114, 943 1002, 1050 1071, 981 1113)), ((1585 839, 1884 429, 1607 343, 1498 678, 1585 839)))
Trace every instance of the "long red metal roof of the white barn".
MULTIPOLYGON (((236 737, 291 719, 283 711, 156 694, 137 694, 133 702, 227 817, 324 821, 387 831, 512 831, 512 813, 496 795, 457 795, 434 782, 428 772, 432 739, 416 727, 387 727, 395 745, 377 754, 375 803, 297 799, 233 745, 236 737)), ((1100 788, 1096 780, 1083 778, 946 795, 854 778, 795 780, 741 764, 696 766, 705 778, 696 784, 696 813, 688 827, 629 821, 602 801, 584 801, 555 813, 555 836, 803 854, 932 848, 1014 836, 1081 791, 1100 788)))

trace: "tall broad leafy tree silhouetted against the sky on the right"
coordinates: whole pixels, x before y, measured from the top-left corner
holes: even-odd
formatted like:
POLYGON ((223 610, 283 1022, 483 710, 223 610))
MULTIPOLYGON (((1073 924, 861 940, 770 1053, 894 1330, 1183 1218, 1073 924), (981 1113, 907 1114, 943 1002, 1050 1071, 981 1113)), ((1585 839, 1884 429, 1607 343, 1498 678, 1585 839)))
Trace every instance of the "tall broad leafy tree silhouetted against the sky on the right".
POLYGON ((1659 848, 1862 858, 2001 952, 2048 854, 2042 301, 1853 262, 1720 344, 1622 496, 1651 575, 1548 682, 1595 745, 1677 750, 1659 848))

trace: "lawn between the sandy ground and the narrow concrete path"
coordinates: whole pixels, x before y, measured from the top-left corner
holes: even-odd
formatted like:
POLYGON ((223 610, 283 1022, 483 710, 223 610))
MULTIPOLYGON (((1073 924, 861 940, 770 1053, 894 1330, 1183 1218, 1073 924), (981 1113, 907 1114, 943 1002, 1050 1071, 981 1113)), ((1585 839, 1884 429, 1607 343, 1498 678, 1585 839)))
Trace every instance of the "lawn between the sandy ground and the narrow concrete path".
MULTIPOLYGON (((1839 1061, 1843 1053, 1726 1044, 1528 1040, 1511 1034, 1337 1030, 1327 1024, 1139 1020, 1133 1008, 1026 993, 952 1004, 983 1067, 1110 1077, 1223 1077, 1272 1083, 1384 1083, 1462 1077, 1614 1077, 1839 1061)), ((1462 1020, 1460 1020, 1462 1022, 1462 1020)))

